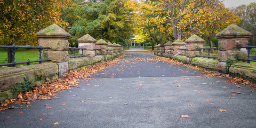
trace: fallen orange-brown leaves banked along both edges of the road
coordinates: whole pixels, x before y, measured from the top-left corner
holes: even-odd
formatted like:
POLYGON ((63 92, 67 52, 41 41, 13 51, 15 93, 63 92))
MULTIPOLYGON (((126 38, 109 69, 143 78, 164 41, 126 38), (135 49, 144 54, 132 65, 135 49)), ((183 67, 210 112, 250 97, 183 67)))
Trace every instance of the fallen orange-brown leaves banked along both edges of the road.
MULTIPOLYGON (((121 57, 116 58, 114 60, 96 63, 95 65, 91 65, 89 67, 82 68, 80 70, 72 70, 67 75, 63 75, 62 78, 55 79, 53 81, 49 81, 46 79, 44 84, 42 84, 42 85, 36 84, 33 90, 31 90, 29 92, 25 92, 25 93, 19 93, 16 98, 12 98, 10 100, 5 100, 4 102, 2 102, 1 106, 0 106, 0 111, 15 108, 14 106, 8 107, 8 105, 10 105, 12 103, 16 103, 16 104, 23 103, 25 105, 29 105, 30 101, 34 101, 34 100, 46 100, 46 99, 51 100, 52 97, 60 98, 60 97, 57 97, 57 94, 55 94, 55 93, 62 92, 63 90, 67 90, 67 89, 72 89, 73 87, 79 87, 79 86, 77 86, 78 83, 80 82, 79 79, 86 79, 87 77, 90 77, 92 74, 97 73, 97 71, 102 71, 109 66, 113 66, 113 65, 116 65, 121 62, 129 62, 131 60, 135 60, 134 63, 138 63, 138 62, 152 63, 152 62, 162 61, 162 62, 171 63, 173 65, 183 65, 190 69, 203 71, 203 73, 207 74, 206 76, 203 76, 203 77, 212 77, 212 76, 222 77, 222 76, 219 76, 214 71, 209 71, 204 68, 199 68, 197 66, 190 66, 190 65, 184 64, 182 62, 179 62, 178 60, 173 60, 170 58, 158 57, 158 56, 154 55, 154 57, 151 57, 151 58, 143 58, 143 59, 142 58, 132 58, 132 59, 126 58, 126 59, 124 59, 123 57, 125 57, 125 56, 132 56, 132 55, 121 55, 121 57)), ((229 78, 229 80, 227 82, 230 82, 230 83, 244 84, 244 85, 251 84, 252 85, 252 83, 246 79, 232 77, 232 76, 226 76, 226 77, 229 78)), ((90 79, 90 78, 88 78, 88 79, 90 79)), ((252 85, 252 86, 256 87, 255 85, 252 85)), ((191 105, 191 106, 193 106, 193 105, 191 105)))

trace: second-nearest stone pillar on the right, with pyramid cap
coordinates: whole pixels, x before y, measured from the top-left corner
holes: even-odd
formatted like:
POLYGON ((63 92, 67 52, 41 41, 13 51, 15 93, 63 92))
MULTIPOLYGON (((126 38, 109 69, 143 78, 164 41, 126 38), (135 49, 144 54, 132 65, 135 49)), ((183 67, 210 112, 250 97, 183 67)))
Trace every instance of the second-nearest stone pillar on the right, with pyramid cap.
MULTIPOLYGON (((187 63, 191 63, 191 59, 199 55, 199 50, 196 48, 203 48, 204 47, 204 39, 200 38, 197 35, 193 35, 189 37, 185 43, 187 43, 187 63)), ((203 54, 203 50, 201 51, 203 54)))

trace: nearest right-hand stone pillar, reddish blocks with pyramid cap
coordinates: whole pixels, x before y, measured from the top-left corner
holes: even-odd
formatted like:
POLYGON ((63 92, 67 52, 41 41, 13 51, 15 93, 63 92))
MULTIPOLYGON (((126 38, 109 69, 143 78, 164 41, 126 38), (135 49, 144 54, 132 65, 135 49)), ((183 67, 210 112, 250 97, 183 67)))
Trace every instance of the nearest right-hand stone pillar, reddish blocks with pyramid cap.
POLYGON ((251 36, 249 31, 236 25, 230 25, 216 34, 216 38, 219 39, 219 64, 217 66, 219 75, 225 76, 228 73, 225 69, 228 59, 235 60, 236 55, 240 59, 247 59, 247 50, 245 48, 237 49, 236 46, 247 46, 248 38, 251 36))

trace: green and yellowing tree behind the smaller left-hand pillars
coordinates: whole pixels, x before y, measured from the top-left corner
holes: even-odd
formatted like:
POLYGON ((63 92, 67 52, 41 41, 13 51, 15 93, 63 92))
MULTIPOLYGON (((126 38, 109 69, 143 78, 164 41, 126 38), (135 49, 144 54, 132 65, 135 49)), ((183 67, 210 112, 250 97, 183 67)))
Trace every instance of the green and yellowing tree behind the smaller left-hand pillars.
POLYGON ((65 9, 65 21, 70 23, 71 42, 85 34, 107 42, 124 42, 134 32, 134 13, 130 0, 76 1, 65 9))

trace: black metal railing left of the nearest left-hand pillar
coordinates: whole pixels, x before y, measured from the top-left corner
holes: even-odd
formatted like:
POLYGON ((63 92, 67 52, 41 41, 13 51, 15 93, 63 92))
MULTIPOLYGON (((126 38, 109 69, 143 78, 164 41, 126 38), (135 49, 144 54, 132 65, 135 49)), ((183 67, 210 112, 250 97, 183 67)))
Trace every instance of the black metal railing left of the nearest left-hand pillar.
POLYGON ((43 49, 51 49, 51 47, 42 47, 42 46, 16 46, 16 45, 11 45, 11 46, 3 46, 1 45, 0 48, 8 48, 9 49, 9 53, 8 53, 8 63, 3 63, 0 64, 0 66, 10 66, 10 67, 16 67, 16 65, 22 64, 22 63, 27 63, 27 65, 30 65, 31 62, 39 62, 39 63, 43 63, 43 61, 50 61, 51 59, 45 59, 42 60, 42 51, 43 49), (34 61, 30 61, 29 59, 27 61, 23 61, 23 62, 15 62, 15 52, 17 49, 38 49, 39 50, 39 60, 34 60, 34 61))

